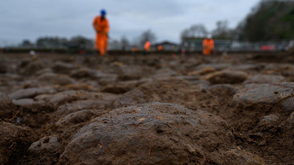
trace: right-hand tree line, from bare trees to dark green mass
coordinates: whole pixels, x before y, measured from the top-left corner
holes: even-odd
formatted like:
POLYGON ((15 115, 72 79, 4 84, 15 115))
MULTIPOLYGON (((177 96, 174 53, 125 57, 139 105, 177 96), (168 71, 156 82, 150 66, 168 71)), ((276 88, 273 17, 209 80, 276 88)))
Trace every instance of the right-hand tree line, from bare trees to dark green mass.
POLYGON ((181 39, 204 38, 211 33, 215 39, 239 41, 268 41, 294 38, 294 1, 262 0, 236 28, 230 29, 227 20, 220 20, 211 32, 195 24, 181 32, 181 39))

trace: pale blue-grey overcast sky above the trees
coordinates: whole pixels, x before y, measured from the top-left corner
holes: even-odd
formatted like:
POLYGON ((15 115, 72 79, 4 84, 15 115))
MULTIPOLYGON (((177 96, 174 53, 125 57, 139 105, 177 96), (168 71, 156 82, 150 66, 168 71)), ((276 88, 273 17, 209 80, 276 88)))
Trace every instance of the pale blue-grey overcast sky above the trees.
POLYGON ((132 41, 151 29, 157 41, 180 41, 180 32, 202 23, 208 30, 217 20, 235 27, 259 0, 1 0, 0 45, 39 36, 94 38, 92 19, 107 11, 110 36, 132 41))

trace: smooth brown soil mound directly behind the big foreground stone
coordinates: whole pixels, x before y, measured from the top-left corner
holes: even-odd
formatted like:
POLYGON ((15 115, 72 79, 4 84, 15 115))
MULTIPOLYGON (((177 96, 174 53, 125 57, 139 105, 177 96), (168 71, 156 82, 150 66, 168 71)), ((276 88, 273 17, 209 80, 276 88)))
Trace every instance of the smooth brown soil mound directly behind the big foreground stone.
POLYGON ((193 105, 196 100, 195 92, 199 90, 191 87, 192 84, 183 79, 169 78, 149 81, 124 93, 115 101, 114 106, 122 107, 155 101, 193 105))

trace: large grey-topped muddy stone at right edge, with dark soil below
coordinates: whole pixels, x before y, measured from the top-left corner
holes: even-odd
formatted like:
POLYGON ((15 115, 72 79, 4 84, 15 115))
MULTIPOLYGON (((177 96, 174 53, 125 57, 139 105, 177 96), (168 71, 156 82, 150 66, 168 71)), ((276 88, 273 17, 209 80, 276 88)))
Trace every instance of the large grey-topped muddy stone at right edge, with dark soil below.
POLYGON ((230 112, 233 118, 227 121, 233 127, 246 131, 254 129, 264 116, 289 115, 294 111, 293 88, 293 83, 247 84, 235 90, 231 104, 235 108, 230 112))

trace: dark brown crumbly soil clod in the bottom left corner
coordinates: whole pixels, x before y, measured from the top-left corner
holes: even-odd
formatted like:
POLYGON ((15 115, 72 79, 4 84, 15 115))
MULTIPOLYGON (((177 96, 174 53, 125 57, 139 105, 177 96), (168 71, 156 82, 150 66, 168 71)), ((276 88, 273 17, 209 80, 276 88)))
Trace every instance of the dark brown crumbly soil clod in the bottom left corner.
POLYGON ((0 121, 0 164, 16 163, 32 143, 27 127, 0 121))

